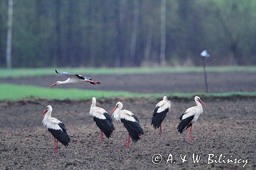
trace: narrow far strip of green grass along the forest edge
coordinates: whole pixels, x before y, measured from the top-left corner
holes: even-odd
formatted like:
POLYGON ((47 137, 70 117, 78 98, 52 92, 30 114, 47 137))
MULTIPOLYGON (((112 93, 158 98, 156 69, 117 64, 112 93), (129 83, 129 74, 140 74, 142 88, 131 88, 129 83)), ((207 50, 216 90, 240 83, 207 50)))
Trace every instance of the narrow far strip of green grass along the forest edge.
MULTIPOLYGON (((19 78, 32 76, 46 76, 56 74, 58 71, 69 71, 78 74, 97 75, 97 74, 145 74, 160 72, 202 72, 202 67, 132 67, 132 68, 18 68, 18 69, 0 69, 0 78, 19 78)), ((255 66, 230 66, 230 67, 207 67, 208 72, 227 72, 227 71, 256 71, 255 66)))

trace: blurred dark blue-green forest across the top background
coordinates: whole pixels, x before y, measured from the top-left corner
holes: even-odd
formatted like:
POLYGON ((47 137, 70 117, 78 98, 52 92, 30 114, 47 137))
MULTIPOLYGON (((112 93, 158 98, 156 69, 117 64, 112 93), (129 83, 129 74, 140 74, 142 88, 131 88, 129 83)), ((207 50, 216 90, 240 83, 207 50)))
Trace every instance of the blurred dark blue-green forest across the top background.
MULTIPOLYGON (((162 1, 14 0, 13 66, 199 65, 204 49, 210 65, 256 64, 256 1, 162 1)), ((0 0, 2 67, 7 20, 0 0)))

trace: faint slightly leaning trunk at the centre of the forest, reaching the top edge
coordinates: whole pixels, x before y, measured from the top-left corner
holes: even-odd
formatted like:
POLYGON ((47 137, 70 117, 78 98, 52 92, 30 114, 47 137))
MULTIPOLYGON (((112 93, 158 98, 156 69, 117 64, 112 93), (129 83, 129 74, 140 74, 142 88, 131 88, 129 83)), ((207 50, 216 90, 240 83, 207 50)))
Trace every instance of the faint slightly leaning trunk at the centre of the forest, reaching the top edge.
POLYGON ((132 65, 135 64, 135 51, 136 51, 138 21, 139 21, 139 1, 135 0, 134 1, 134 18, 133 18, 133 29, 132 29, 132 39, 131 39, 131 50, 130 50, 132 65))

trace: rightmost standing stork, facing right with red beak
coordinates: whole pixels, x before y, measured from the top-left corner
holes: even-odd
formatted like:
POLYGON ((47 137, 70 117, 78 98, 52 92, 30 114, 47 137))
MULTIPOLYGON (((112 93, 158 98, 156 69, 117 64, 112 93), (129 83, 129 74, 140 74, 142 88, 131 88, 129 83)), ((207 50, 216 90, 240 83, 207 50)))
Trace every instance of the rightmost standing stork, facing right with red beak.
POLYGON ((197 122, 198 117, 201 113, 203 113, 203 107, 201 103, 206 106, 203 101, 199 98, 199 96, 195 96, 195 102, 197 106, 188 108, 185 113, 183 113, 180 117, 180 123, 178 125, 178 132, 182 133, 185 128, 187 129, 187 141, 190 127, 190 141, 193 142, 192 139, 192 125, 197 122))

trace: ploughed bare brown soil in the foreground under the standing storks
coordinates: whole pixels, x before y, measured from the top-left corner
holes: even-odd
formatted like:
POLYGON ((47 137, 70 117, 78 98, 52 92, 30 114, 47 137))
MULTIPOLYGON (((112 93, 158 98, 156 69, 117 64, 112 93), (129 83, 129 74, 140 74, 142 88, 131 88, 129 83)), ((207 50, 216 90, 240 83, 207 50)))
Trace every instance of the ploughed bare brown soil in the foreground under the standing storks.
MULTIPOLYGON (((193 143, 186 141, 186 132, 179 134, 176 128, 179 115, 194 106, 194 101, 173 100, 172 112, 166 116, 159 136, 150 125, 157 101, 121 100, 124 109, 139 117, 145 131, 130 148, 125 147, 127 132, 118 122, 113 137, 99 141, 99 129, 89 115, 91 101, 0 102, 0 169, 242 169, 243 164, 207 165, 209 153, 248 159, 245 169, 255 169, 255 98, 202 100, 208 107, 193 126, 193 143), (53 137, 41 125, 40 114, 47 105, 52 105, 52 116, 66 125, 71 136, 70 146, 59 144, 55 155, 53 137), (151 161, 155 153, 163 156, 157 165, 151 161), (166 165, 170 153, 176 163, 166 165), (180 153, 188 154, 187 162, 181 163, 180 153), (202 154, 203 164, 193 164, 193 153, 202 154)), ((97 105, 110 112, 116 102, 102 99, 97 105)))

